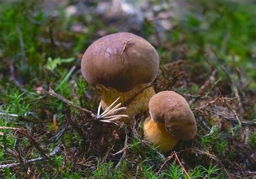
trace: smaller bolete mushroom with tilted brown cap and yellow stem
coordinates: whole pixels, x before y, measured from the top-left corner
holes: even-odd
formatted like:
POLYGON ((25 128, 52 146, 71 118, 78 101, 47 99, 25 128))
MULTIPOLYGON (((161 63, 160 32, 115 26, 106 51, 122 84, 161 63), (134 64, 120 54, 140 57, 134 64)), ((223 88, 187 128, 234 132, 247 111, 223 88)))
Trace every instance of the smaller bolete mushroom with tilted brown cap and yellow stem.
POLYGON ((180 140, 193 139, 197 123, 186 99, 174 91, 161 91, 149 102, 150 117, 144 121, 144 138, 161 152, 180 140))

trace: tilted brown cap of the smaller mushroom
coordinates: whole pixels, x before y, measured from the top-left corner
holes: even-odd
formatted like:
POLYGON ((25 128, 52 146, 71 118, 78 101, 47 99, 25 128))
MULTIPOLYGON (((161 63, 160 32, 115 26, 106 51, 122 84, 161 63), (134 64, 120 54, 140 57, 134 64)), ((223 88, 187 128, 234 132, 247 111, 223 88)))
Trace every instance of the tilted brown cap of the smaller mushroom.
POLYGON ((190 140, 197 133, 197 123, 186 99, 174 91, 161 91, 149 102, 151 118, 165 124, 166 131, 181 140, 190 140))

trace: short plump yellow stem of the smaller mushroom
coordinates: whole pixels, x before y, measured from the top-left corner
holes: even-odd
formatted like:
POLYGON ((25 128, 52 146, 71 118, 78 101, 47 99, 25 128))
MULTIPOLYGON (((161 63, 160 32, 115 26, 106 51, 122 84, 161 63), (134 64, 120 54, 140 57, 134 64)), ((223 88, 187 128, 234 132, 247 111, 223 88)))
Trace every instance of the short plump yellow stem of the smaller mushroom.
POLYGON ((178 139, 165 130, 164 124, 155 123, 151 117, 147 117, 143 124, 144 139, 161 152, 169 152, 177 144, 178 139))

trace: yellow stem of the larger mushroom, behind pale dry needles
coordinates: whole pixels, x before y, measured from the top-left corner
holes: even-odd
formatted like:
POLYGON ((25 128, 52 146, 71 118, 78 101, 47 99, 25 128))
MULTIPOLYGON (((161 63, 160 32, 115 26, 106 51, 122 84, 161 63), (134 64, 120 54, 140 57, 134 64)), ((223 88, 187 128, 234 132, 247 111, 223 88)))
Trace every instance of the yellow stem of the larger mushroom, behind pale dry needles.
MULTIPOLYGON (((118 92, 116 89, 105 88, 102 85, 97 85, 97 89, 100 90, 100 97, 102 99, 102 109, 105 110, 118 97, 120 97, 118 102, 124 104, 125 102, 127 102, 127 100, 138 94, 139 91, 141 91, 148 85, 150 85, 150 83, 140 84, 131 91, 127 92, 118 92)), ((150 98, 155 94, 156 92, 154 91, 153 87, 149 87, 143 92, 140 92, 140 94, 126 106, 126 110, 118 113, 127 114, 129 116, 129 118, 123 118, 123 120, 121 121, 129 122, 135 114, 142 111, 147 111, 149 109, 150 98)))

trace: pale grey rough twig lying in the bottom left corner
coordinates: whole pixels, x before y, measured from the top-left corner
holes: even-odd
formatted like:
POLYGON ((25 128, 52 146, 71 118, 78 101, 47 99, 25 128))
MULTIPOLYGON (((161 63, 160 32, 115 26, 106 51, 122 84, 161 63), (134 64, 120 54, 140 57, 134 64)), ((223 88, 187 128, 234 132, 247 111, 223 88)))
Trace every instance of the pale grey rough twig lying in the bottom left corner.
MULTIPOLYGON (((56 155, 59 151, 60 151, 60 147, 56 147, 55 149, 53 149, 53 151, 49 155, 41 156, 41 157, 38 157, 36 159, 30 159, 30 160, 24 161, 23 164, 26 165, 26 164, 30 164, 30 163, 33 163, 33 162, 37 162, 37 161, 47 159, 48 157, 56 155)), ((0 165, 0 169, 14 168, 14 167, 17 167, 19 165, 21 165, 21 163, 2 164, 2 165, 0 165)))

